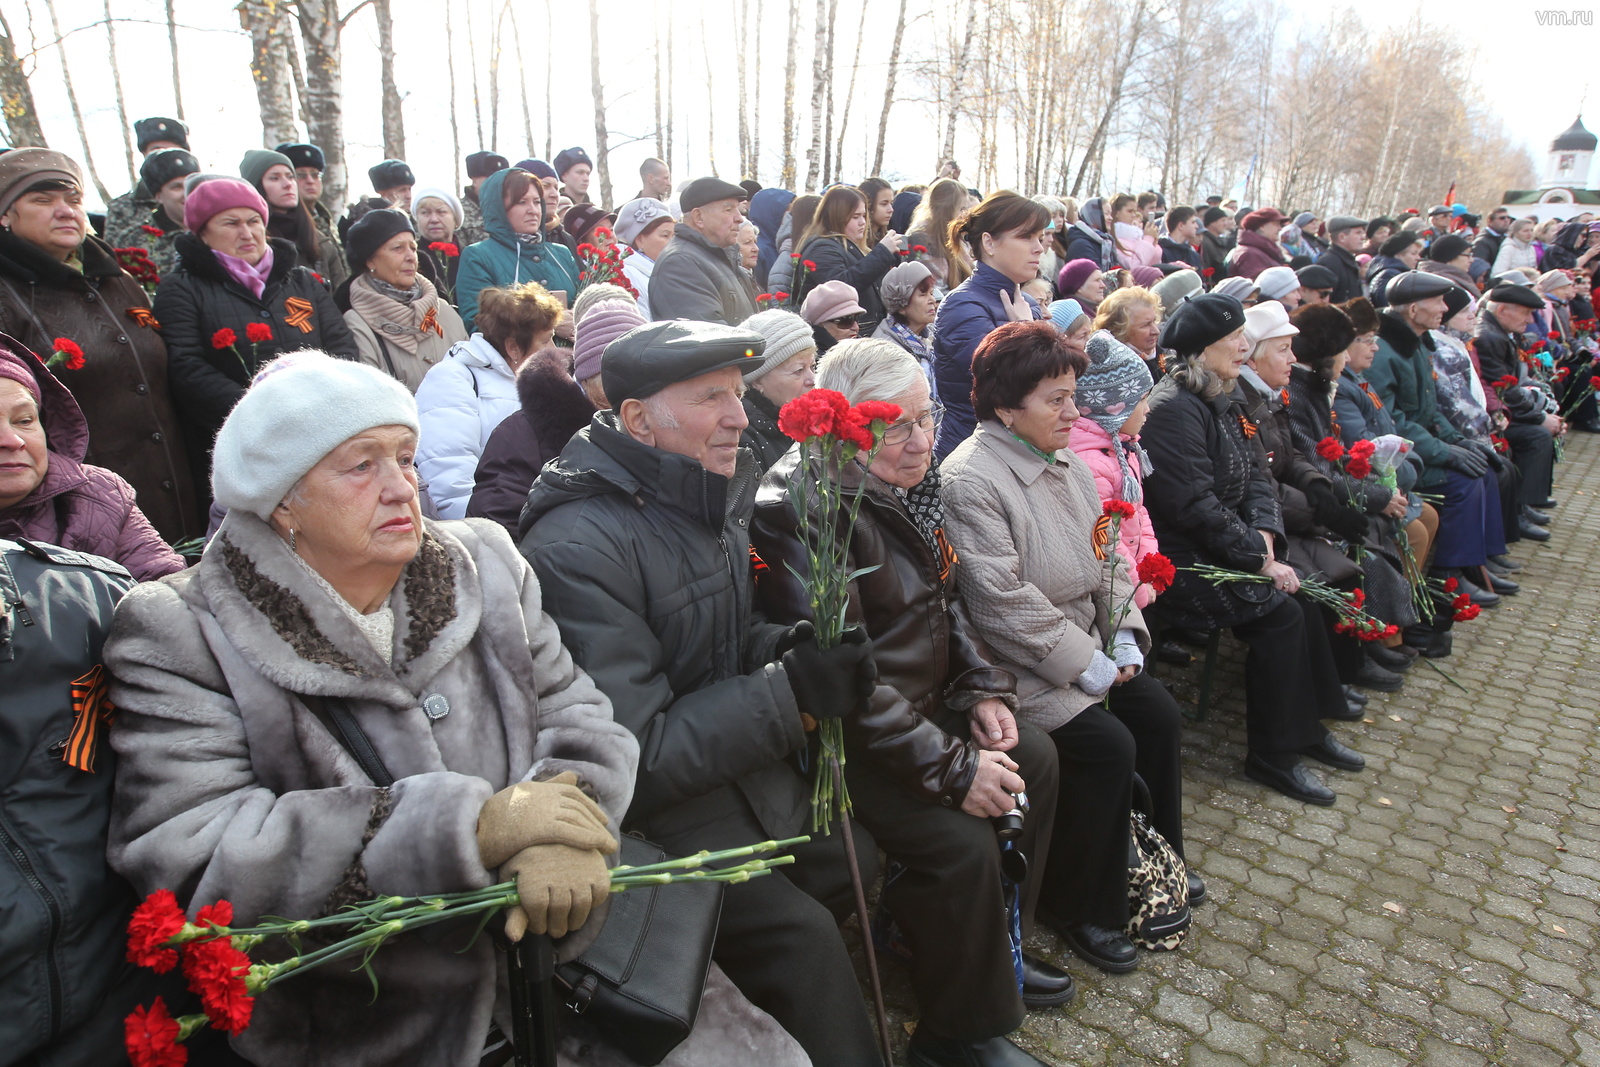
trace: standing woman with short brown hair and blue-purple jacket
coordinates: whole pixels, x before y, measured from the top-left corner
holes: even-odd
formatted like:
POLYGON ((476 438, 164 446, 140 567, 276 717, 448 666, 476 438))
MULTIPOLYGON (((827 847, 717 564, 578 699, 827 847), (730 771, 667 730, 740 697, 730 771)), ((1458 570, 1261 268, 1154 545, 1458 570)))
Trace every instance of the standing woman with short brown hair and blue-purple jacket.
POLYGON ((1050 208, 1014 192, 997 192, 950 224, 950 245, 970 250, 978 267, 955 286, 933 320, 933 374, 944 402, 936 451, 947 456, 973 432, 973 352, 1008 322, 1043 318, 1022 283, 1038 275, 1050 208))

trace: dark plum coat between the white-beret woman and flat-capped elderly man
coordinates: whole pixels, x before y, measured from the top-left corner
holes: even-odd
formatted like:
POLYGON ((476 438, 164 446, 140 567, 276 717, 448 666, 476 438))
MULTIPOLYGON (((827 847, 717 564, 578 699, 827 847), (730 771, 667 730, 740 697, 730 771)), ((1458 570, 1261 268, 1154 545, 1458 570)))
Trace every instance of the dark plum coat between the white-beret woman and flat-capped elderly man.
POLYGON ((595 413, 584 387, 539 355, 517 371, 517 398, 522 411, 490 432, 467 501, 467 518, 493 518, 512 534, 539 469, 560 456, 595 413))

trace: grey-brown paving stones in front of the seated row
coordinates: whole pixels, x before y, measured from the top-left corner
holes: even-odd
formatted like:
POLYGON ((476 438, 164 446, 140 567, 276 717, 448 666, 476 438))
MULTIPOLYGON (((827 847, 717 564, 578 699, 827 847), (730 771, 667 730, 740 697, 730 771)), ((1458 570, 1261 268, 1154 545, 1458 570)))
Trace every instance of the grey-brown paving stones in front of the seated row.
MULTIPOLYGON (((1243 649, 1184 736, 1186 833, 1210 901, 1176 952, 1104 974, 1050 931, 1077 1000, 1018 1043, 1051 1064, 1600 1065, 1600 440, 1557 467, 1554 537, 1522 593, 1454 630, 1368 721, 1333 808, 1245 779, 1243 649)), ((1186 705, 1198 680, 1158 669, 1186 705)), ((1317 766, 1317 765, 1314 765, 1317 766)), ((885 966, 904 1046, 915 1005, 885 966)))

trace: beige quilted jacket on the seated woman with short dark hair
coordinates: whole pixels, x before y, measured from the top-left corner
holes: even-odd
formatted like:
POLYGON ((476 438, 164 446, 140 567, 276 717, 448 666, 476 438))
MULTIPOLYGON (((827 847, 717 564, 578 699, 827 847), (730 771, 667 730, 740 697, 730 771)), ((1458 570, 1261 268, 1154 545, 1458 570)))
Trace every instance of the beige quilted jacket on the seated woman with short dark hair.
MULTIPOLYGON (((1104 699, 1077 678, 1106 646, 1112 609, 1134 590, 1115 539, 1106 560, 1094 550, 1094 475, 1070 450, 1046 464, 992 419, 955 446, 939 474, 966 613, 998 665, 1016 675, 1018 713, 1051 731, 1104 699)), ((1120 629, 1149 651, 1138 606, 1128 605, 1120 629)))

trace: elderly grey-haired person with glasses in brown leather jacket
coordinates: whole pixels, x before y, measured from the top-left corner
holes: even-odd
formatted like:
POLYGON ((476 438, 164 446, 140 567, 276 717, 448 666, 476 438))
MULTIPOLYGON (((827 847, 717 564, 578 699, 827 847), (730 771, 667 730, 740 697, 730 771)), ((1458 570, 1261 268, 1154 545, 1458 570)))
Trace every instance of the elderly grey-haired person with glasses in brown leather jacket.
MULTIPOLYGON (((1054 753, 1043 733, 1018 723, 1014 678, 984 657, 955 608, 960 563, 944 536, 933 467, 939 408, 922 366, 888 341, 843 341, 822 357, 816 384, 851 403, 883 400, 902 411, 870 464, 853 461, 838 477, 862 491, 850 541, 850 566, 859 568, 850 619, 866 629, 878 665, 866 710, 845 725, 845 773, 856 819, 906 867, 886 883, 883 907, 914 955, 922 1022, 910 1062, 1032 1064, 1005 1035, 1021 1025, 1024 1003, 1064 1003, 1072 981, 1022 957, 1018 993, 989 819, 1011 811, 1026 790, 1032 814, 1022 853, 1042 862, 1054 753)), ((792 450, 768 470, 750 528, 750 545, 766 561, 757 597, 779 621, 811 616, 797 577, 808 566, 790 496, 798 462, 792 450)))

